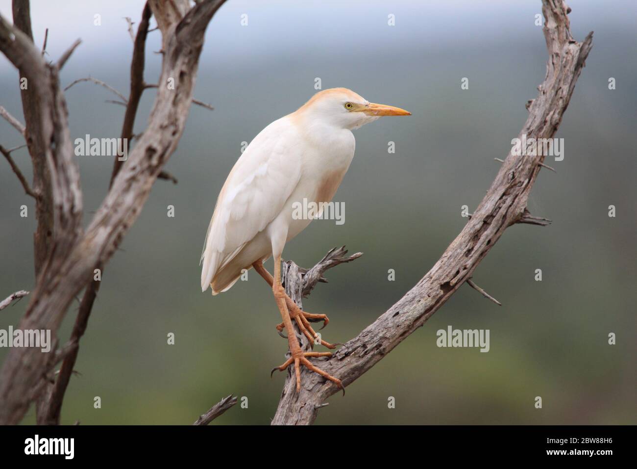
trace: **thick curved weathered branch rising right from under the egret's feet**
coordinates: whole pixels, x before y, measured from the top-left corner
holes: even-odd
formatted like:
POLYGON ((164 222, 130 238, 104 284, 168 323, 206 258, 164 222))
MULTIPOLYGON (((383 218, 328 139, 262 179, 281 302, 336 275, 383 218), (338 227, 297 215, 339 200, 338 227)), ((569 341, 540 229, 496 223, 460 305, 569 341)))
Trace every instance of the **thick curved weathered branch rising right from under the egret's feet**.
MULTIPOLYGON (((592 33, 583 42, 573 40, 562 0, 543 0, 543 28, 549 59, 538 97, 528 103, 519 138, 552 138, 562 121, 586 57, 592 33)), ((544 156, 513 156, 509 152, 496 179, 478 208, 445 250, 440 260, 399 301, 357 337, 343 345, 320 368, 349 385, 389 354, 424 323, 471 278, 480 261, 511 225, 525 221, 527 198, 544 156)), ((287 378, 272 424, 311 424, 318 408, 338 391, 332 382, 303 369, 301 392, 287 378)))

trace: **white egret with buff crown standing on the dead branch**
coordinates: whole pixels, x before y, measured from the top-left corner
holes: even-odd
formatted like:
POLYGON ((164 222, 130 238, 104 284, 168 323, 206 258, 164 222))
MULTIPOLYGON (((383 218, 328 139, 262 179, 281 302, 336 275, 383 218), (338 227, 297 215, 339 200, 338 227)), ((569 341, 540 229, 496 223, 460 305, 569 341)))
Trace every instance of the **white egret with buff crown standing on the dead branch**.
MULTIPOLYGON (((303 352, 292 320, 313 343, 317 333, 308 321, 323 320, 299 309, 281 285, 281 255, 285 242, 299 234, 312 217, 293 216, 303 200, 330 202, 354 157, 352 130, 383 115, 410 115, 397 107, 370 103, 347 88, 316 93, 296 112, 269 124, 252 140, 225 180, 204 242, 201 290, 217 295, 231 288, 243 269, 255 271, 271 285, 283 318, 291 357, 275 369, 294 363, 296 390, 301 389, 303 364, 343 387, 338 378, 318 369, 308 357, 330 352, 303 352), (274 277, 263 262, 274 257, 274 277)), ((313 217, 315 218, 315 217, 313 217)), ((328 348, 335 346, 320 341, 328 348)))

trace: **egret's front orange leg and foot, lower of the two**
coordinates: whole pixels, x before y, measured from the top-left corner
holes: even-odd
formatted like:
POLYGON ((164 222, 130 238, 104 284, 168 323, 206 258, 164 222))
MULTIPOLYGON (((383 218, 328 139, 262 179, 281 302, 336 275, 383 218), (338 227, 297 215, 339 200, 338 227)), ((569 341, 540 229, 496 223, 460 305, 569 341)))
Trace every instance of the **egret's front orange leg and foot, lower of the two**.
MULTIPOLYGON (((345 392, 345 388, 343 387, 343 383, 338 378, 334 378, 327 374, 322 369, 315 367, 306 357, 327 357, 331 355, 330 352, 305 352, 301 350, 301 346, 296 339, 296 335, 294 334, 294 327, 292 327, 292 319, 290 318, 290 313, 287 309, 287 305, 285 304, 285 290, 283 290, 283 286, 281 285, 281 257, 277 256, 275 258, 275 279, 273 281, 274 285, 272 287, 272 292, 275 296, 276 306, 278 306, 279 311, 281 313, 281 317, 283 318, 283 324, 285 325, 285 329, 287 331, 287 340, 290 346, 290 353, 292 357, 287 359, 285 363, 281 366, 276 367, 275 369, 279 369, 283 371, 287 369, 292 363, 294 363, 294 373, 296 374, 296 392, 301 391, 301 370, 300 366, 303 364, 310 371, 314 371, 319 375, 327 378, 328 380, 336 383, 338 387, 343 389, 345 392)), ((274 371, 274 370, 273 370, 274 371)))

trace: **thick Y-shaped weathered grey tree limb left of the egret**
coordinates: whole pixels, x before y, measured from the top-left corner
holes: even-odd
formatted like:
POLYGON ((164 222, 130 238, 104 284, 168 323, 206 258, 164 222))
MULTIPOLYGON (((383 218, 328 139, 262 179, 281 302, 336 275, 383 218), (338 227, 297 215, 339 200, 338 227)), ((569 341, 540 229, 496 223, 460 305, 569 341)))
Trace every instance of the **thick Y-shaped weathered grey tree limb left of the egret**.
MULTIPOLYGON (((167 84, 170 78, 175 87, 161 86, 157 90, 146 130, 85 233, 80 224, 79 174, 57 66, 45 63, 32 41, 0 17, 0 50, 24 71, 30 93, 37 94, 41 103, 41 133, 33 138, 42 140, 45 148, 55 202, 54 247, 38 276, 20 329, 50 329, 52 341, 57 343, 57 329, 69 304, 92 279, 94 267, 108 262, 138 218, 152 184, 182 135, 204 32, 224 1, 197 3, 178 22, 163 23, 168 29, 162 29, 164 54, 159 83, 167 84)), ((50 363, 45 355, 35 348, 12 348, 9 352, 0 371, 0 424, 15 424, 24 416, 34 398, 32 391, 50 363)))

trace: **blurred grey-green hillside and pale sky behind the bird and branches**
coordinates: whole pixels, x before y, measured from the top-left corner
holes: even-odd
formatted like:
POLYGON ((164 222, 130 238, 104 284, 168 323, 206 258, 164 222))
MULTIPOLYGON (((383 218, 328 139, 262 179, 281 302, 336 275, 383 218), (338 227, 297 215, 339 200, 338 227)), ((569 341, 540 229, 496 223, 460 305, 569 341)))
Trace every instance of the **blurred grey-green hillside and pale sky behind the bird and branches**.
MULTIPOLYGON (((529 209, 554 220, 547 228, 506 231, 469 287, 320 411, 317 424, 634 424, 634 318, 637 56, 633 1, 571 1, 573 35, 595 31, 594 47, 556 137, 564 161, 547 163, 529 209), (608 89, 608 78, 617 89, 608 89), (608 217, 608 205, 617 217, 608 217), (534 281, 542 269, 543 281, 534 281), (438 348, 436 331, 490 329, 490 352, 438 348), (617 345, 608 345, 609 332, 617 345), (396 408, 387 408, 389 396, 396 408), (534 408, 535 396, 543 408, 534 408)), ((143 1, 31 2, 36 43, 50 28, 57 59, 83 44, 62 71, 66 86, 92 76, 128 93, 132 43, 122 17, 138 22, 143 1), (101 26, 94 26, 94 15, 101 26)), ((436 262, 473 211, 527 116, 545 76, 547 51, 534 25, 540 1, 241 1, 213 18, 201 56, 196 98, 166 169, 139 220, 104 270, 62 409, 72 424, 189 424, 231 392, 247 396, 215 424, 268 424, 283 374, 269 370, 287 343, 280 316, 254 271, 247 282, 211 297, 199 288, 199 255, 226 175, 264 126, 292 112, 322 87, 344 86, 370 101, 404 107, 404 119, 381 119, 355 131, 354 162, 335 200, 345 224, 315 221, 284 257, 310 267, 333 246, 364 256, 327 273, 304 306, 327 313, 328 341, 345 342, 411 288, 436 262), (248 26, 240 15, 248 15, 248 26), (396 15, 396 26, 387 15, 396 15), (461 90, 462 77, 469 89, 461 90), (387 142, 396 153, 387 153, 387 142), (166 216, 175 205, 175 218, 166 216), (396 280, 387 280, 395 269, 396 280), (175 345, 166 336, 174 332, 175 345), (93 408, 94 396, 102 408, 93 408)), ((11 18, 9 0, 0 13, 11 18)), ((155 82, 160 33, 149 34, 147 82, 155 82)), ((108 91, 78 84, 68 92, 71 137, 118 137, 124 108, 108 91)), ((154 91, 145 92, 136 131, 154 91)), ((0 58, 0 104, 22 118, 17 72, 0 58)), ((0 143, 22 144, 0 121, 0 143)), ((14 154, 29 175, 27 151, 14 154)), ((78 157, 85 223, 108 186, 109 157, 78 157)), ((34 286, 34 204, 0 161, 0 297, 34 286), (29 217, 20 218, 20 205, 29 217)), ((267 267, 271 269, 271 260, 267 267)), ((28 299, 0 314, 17 325, 28 299)), ((61 337, 70 332, 69 308, 61 337)), ((0 350, 0 361, 6 349, 0 350)), ((0 403, 1 405, 1 403, 0 403)), ((25 422, 34 422, 31 409, 25 422)))

